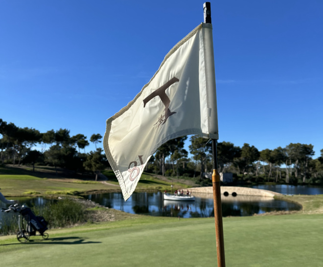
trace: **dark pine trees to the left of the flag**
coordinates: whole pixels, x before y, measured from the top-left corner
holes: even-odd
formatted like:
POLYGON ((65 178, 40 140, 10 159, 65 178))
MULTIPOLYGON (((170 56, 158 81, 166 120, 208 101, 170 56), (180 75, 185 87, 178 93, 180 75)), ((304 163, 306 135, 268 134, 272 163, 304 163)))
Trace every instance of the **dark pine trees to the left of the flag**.
POLYGON ((41 133, 36 129, 20 128, 0 119, 0 136, 0 164, 31 164, 33 170, 35 164, 45 164, 55 167, 56 173, 57 167, 76 173, 90 171, 95 174, 95 180, 99 171, 109 166, 103 150, 96 147, 101 142, 101 134, 92 134, 90 142, 95 144, 96 150, 90 153, 85 153, 85 147, 90 144, 87 136, 70 136, 68 129, 41 133), (40 151, 32 149, 36 144, 40 145, 40 151))

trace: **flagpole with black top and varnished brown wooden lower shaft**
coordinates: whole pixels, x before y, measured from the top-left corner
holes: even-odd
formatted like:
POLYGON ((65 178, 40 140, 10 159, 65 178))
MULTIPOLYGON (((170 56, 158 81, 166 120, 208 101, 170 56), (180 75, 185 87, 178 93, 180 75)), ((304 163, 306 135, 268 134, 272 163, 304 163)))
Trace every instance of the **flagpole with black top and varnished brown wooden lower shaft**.
MULTIPOLYGON (((211 23, 210 2, 205 2, 203 5, 203 9, 204 9, 204 23, 211 23)), ((211 49, 212 49, 211 54, 213 55, 213 47, 211 49)), ((209 75, 215 75, 215 74, 209 73, 209 75)), ((224 235, 223 235, 223 223, 222 223, 220 174, 217 170, 218 159, 217 159, 217 151, 216 151, 216 139, 212 139, 212 154, 213 154, 212 185, 213 185, 214 220, 215 220, 215 234, 216 234, 216 252, 217 252, 217 259, 218 259, 218 267, 225 267, 226 261, 225 261, 225 255, 224 255, 224 235)))

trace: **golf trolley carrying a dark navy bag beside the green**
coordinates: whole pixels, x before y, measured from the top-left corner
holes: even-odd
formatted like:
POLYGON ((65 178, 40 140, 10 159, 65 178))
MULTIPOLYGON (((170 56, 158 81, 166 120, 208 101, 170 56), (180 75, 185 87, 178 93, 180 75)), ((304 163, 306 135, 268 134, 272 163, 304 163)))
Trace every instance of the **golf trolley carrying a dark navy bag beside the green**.
MULTIPOLYGON (((3 195, 0 193, 0 200, 4 203, 13 203, 14 200, 6 200, 3 195)), ((36 216, 30 208, 25 206, 20 206, 18 204, 12 204, 9 208, 2 208, 2 212, 19 212, 18 215, 18 225, 19 232, 17 233, 17 239, 19 242, 24 243, 27 242, 30 236, 36 236, 36 231, 40 233, 40 235, 44 239, 48 239, 48 234, 45 233, 47 228, 47 222, 44 217, 36 216)))

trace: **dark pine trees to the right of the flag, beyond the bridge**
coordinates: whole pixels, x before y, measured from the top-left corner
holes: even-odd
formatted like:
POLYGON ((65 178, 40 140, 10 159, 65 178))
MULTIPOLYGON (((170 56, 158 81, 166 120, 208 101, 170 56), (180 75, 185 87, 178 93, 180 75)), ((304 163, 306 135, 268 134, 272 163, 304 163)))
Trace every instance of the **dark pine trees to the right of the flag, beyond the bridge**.
MULTIPOLYGON (((188 158, 184 149, 186 139, 187 136, 179 137, 162 145, 150 160, 153 163, 150 170, 163 176, 199 176, 202 180, 213 169, 212 144, 208 139, 191 136, 188 148, 193 156, 188 158)), ((316 159, 312 158, 313 149, 311 144, 290 143, 284 148, 259 151, 247 143, 239 147, 231 142, 218 142, 218 170, 231 172, 238 180, 322 184, 323 149, 316 159)))

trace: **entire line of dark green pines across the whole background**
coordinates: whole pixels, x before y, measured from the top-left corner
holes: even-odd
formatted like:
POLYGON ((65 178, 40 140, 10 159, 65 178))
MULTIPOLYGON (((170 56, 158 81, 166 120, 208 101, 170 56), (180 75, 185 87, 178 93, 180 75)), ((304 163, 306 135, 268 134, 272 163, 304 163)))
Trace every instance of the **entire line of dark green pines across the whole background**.
MULTIPOLYGON (((66 168, 78 173, 91 171, 97 174, 109 167, 101 148, 100 134, 92 134, 90 142, 95 151, 85 153, 89 145, 83 134, 69 135, 68 129, 40 133, 33 128, 20 128, 0 119, 0 163, 13 165, 46 164, 66 168), (32 148, 39 144, 40 150, 32 148), (84 151, 84 153, 82 153, 84 151)), ((205 179, 212 171, 212 144, 208 139, 190 136, 188 152, 184 149, 187 136, 163 144, 151 156, 146 171, 162 176, 205 179)), ((231 172, 236 180, 254 182, 323 183, 323 149, 321 156, 313 159, 313 145, 290 143, 286 147, 259 151, 245 143, 242 147, 231 142, 218 142, 218 170, 231 172)))

